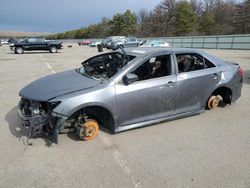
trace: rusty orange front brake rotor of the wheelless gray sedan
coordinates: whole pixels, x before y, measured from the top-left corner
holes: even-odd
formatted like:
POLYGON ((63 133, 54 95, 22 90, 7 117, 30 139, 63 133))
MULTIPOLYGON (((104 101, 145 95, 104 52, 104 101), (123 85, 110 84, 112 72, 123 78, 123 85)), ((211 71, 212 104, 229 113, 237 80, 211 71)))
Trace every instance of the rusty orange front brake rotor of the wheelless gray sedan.
POLYGON ((82 139, 85 141, 92 140, 93 138, 96 137, 98 132, 99 132, 99 125, 98 125, 97 121, 95 121, 93 119, 88 119, 83 124, 82 139))

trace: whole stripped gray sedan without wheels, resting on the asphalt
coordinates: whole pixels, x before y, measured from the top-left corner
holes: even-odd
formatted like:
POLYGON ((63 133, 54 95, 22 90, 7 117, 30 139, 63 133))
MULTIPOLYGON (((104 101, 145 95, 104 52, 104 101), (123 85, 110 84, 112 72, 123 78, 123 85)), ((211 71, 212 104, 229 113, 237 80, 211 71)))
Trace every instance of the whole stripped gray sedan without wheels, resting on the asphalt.
POLYGON ((91 140, 231 104, 241 96, 243 71, 203 51, 128 48, 103 53, 78 69, 36 80, 19 95, 28 137, 76 132, 91 140))

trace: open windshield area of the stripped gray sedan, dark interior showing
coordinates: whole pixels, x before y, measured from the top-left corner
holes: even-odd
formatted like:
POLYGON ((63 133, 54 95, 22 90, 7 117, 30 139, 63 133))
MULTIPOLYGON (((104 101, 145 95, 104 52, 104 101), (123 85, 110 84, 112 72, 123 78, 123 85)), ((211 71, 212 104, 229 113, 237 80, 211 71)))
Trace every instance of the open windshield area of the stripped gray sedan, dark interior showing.
POLYGON ((106 53, 84 61, 78 71, 82 75, 104 81, 118 73, 134 58, 135 56, 120 52, 106 53))

